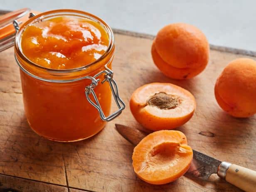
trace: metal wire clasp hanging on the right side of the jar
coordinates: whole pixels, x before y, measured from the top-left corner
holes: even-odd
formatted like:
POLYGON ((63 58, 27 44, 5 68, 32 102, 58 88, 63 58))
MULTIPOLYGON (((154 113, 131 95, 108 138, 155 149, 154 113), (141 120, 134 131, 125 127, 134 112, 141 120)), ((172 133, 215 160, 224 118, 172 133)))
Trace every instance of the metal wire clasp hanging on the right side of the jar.
POLYGON ((123 109, 126 107, 125 103, 122 101, 122 99, 119 97, 118 94, 118 87, 116 85, 116 81, 113 79, 113 71, 111 71, 106 65, 105 65, 106 70, 99 72, 98 74, 92 76, 87 76, 87 79, 91 79, 91 84, 89 86, 86 86, 85 88, 85 95, 87 100, 89 101, 89 103, 91 103, 91 105, 93 105, 98 112, 100 113, 100 117, 103 121, 111 121, 114 118, 116 118, 117 116, 119 116, 123 109), (116 105, 118 106, 118 110, 115 111, 114 113, 112 113, 111 115, 109 115, 108 117, 106 117, 102 111, 101 105, 98 101, 98 98, 94 92, 94 88, 98 85, 98 82, 100 81, 100 79, 97 79, 98 76, 100 76, 101 74, 105 74, 103 81, 101 81, 101 84, 103 84, 105 81, 108 81, 109 86, 111 88, 113 97, 116 101, 116 105), (91 98, 89 97, 90 94, 93 95, 94 97, 94 101, 91 100, 91 98))

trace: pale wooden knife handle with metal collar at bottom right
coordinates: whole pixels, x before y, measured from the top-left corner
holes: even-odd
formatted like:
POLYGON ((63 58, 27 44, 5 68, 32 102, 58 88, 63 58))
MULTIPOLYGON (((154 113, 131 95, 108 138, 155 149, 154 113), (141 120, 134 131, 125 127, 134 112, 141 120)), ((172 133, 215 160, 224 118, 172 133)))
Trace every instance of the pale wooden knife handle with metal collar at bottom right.
POLYGON ((239 165, 222 162, 218 175, 246 192, 256 192, 256 171, 239 165))

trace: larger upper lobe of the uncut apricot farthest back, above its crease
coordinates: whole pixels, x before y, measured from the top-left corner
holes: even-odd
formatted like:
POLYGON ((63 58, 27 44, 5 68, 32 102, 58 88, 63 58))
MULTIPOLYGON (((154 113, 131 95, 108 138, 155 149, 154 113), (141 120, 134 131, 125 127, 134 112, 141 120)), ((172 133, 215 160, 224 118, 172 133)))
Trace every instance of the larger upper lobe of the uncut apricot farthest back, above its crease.
POLYGON ((160 57, 177 68, 197 68, 209 60, 209 43, 193 25, 174 23, 163 27, 155 46, 160 57))

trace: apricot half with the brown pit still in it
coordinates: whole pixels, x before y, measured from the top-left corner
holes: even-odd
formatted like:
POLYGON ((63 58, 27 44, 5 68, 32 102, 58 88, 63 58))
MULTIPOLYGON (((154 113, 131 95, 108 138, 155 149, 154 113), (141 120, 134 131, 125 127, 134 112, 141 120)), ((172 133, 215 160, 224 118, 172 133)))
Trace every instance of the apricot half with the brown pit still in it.
POLYGON ((152 83, 136 89, 130 99, 134 118, 150 130, 173 129, 193 116, 194 96, 170 83, 152 83))

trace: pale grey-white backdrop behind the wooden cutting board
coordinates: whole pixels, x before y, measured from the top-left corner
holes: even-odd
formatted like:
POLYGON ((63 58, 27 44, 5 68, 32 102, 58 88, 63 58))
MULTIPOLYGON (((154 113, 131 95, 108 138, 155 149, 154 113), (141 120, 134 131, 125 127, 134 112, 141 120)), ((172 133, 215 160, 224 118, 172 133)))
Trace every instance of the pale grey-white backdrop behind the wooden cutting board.
POLYGON ((1 10, 78 9, 113 28, 156 34, 164 25, 199 27, 214 45, 256 51, 256 0, 0 0, 1 10))

